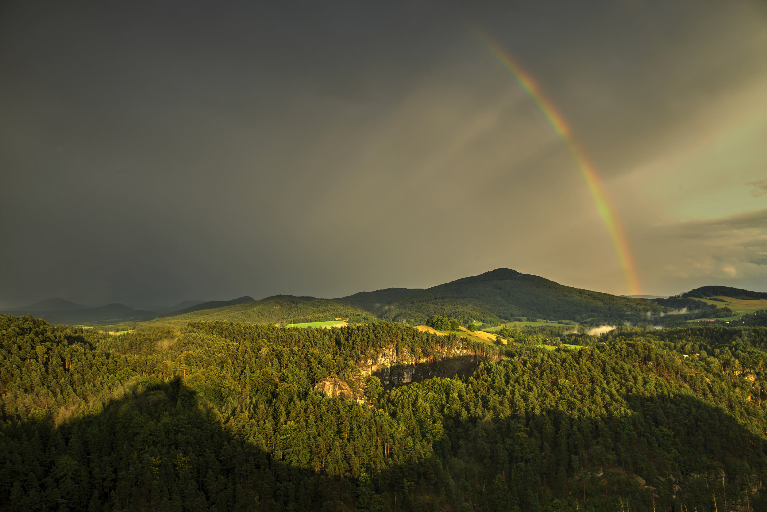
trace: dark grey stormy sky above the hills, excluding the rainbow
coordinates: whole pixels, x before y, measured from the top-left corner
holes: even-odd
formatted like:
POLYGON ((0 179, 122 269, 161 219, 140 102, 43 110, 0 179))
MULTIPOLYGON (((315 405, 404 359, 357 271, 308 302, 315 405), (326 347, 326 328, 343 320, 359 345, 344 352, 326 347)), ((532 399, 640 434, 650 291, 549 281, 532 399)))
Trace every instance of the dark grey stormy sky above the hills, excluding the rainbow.
POLYGON ((338 297, 496 267, 767 290, 767 4, 2 2, 0 306, 338 297))

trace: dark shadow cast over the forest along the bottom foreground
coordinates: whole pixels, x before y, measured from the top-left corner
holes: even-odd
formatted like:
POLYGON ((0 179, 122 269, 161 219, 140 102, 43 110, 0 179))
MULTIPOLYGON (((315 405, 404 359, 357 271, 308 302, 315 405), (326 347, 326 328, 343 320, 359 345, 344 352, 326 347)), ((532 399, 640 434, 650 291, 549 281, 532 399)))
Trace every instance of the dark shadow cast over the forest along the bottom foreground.
MULTIPOLYGON (((340 477, 315 471, 311 455, 286 463, 274 442, 241 428, 256 412, 199 405, 174 379, 133 389, 58 427, 45 419, 5 425, 0 482, 9 490, 8 510, 89 511, 560 512, 580 501, 578 510, 612 512, 620 498, 636 512, 682 510, 680 503, 703 512, 714 510, 714 495, 732 504, 745 496, 744 486, 761 489, 765 443, 724 409, 690 395, 624 399, 625 418, 575 419, 554 410, 447 416, 432 456, 406 456, 380 473, 355 469, 352 454, 328 447, 328 457, 347 461, 348 476, 340 477), (726 474, 724 487, 715 468, 726 474)), ((296 432, 275 435, 283 455, 298 445, 296 432)), ((750 500, 752 510, 764 505, 759 494, 750 500)))

